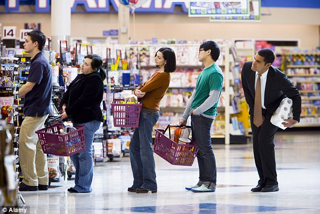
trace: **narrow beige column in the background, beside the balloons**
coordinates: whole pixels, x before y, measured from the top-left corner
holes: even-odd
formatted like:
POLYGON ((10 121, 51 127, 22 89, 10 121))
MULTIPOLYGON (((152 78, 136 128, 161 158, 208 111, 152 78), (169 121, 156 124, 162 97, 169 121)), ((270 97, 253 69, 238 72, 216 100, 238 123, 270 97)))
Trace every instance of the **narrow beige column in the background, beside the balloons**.
POLYGON ((118 7, 118 40, 119 44, 129 43, 129 24, 130 24, 130 10, 129 7, 119 4, 118 7))

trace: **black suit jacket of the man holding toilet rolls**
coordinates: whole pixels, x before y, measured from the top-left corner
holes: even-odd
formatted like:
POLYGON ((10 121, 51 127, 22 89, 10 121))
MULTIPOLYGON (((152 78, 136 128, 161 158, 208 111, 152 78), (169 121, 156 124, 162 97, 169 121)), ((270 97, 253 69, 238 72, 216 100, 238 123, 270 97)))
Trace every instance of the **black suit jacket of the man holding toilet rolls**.
MULTIPOLYGON (((241 81, 244 96, 249 105, 249 114, 253 115, 254 96, 255 96, 255 71, 251 70, 252 61, 246 62, 241 71, 241 81)), ((271 66, 264 90, 264 106, 266 110, 273 114, 279 107, 282 99, 289 97, 292 99, 293 119, 300 121, 301 114, 301 94, 298 89, 291 83, 288 77, 279 69, 271 66)))

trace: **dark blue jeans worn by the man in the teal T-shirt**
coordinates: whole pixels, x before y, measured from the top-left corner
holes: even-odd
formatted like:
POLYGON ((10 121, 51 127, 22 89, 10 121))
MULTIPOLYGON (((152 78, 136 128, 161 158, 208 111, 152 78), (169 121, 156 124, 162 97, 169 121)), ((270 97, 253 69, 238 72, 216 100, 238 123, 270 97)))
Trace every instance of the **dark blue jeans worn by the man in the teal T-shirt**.
POLYGON ((211 146, 210 128, 214 119, 191 115, 192 137, 198 145, 199 180, 214 186, 217 183, 217 167, 214 150, 211 146))

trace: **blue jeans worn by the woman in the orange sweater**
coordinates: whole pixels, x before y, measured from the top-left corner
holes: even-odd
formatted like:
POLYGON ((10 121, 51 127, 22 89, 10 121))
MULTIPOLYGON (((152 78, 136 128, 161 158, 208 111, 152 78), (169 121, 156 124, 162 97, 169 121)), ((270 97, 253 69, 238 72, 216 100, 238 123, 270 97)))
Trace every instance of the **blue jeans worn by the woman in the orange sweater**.
POLYGON ((139 126, 134 130, 129 151, 133 173, 132 188, 157 190, 152 145, 152 128, 159 119, 156 113, 140 113, 139 126))

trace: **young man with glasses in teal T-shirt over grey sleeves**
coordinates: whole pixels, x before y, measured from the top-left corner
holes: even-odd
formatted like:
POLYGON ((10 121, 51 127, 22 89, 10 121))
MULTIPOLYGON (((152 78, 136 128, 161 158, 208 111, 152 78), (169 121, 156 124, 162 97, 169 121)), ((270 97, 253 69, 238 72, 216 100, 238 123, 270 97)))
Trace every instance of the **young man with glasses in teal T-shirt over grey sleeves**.
POLYGON ((205 66, 199 74, 195 89, 182 115, 180 126, 186 125, 191 115, 192 136, 198 145, 199 182, 186 190, 192 192, 215 192, 217 185, 217 167, 214 150, 211 147, 210 128, 215 116, 218 116, 223 74, 216 64, 220 48, 214 41, 205 41, 200 45, 198 60, 205 66))

